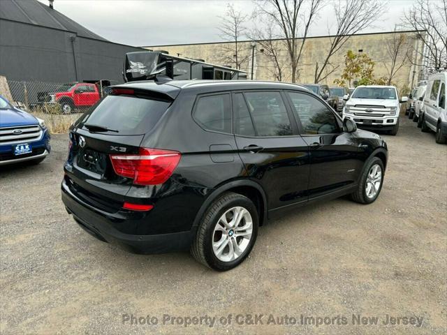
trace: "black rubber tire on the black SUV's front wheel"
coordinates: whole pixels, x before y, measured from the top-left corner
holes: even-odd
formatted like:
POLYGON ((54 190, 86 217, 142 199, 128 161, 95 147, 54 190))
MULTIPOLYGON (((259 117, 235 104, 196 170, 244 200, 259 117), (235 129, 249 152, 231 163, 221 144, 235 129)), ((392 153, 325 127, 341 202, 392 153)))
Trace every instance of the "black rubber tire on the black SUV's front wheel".
MULTIPOLYGON (((376 201, 382 189, 384 172, 385 169, 383 168, 383 162, 379 157, 372 157, 371 159, 369 159, 369 161, 365 163, 365 167, 363 168, 356 192, 351 193, 351 199, 355 202, 358 202, 359 204, 371 204, 372 202, 376 201), (379 185, 377 184, 377 182, 372 183, 372 180, 376 179, 371 179, 370 175, 372 173, 372 169, 376 166, 380 168, 379 185), (374 184, 376 188, 376 193, 374 193, 374 195, 372 195, 371 193, 368 194, 368 184, 374 184)), ((376 178, 377 175, 374 174, 374 177, 376 178)), ((374 191, 371 188, 369 188, 369 190, 374 191)))

